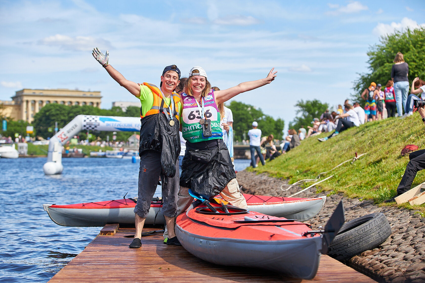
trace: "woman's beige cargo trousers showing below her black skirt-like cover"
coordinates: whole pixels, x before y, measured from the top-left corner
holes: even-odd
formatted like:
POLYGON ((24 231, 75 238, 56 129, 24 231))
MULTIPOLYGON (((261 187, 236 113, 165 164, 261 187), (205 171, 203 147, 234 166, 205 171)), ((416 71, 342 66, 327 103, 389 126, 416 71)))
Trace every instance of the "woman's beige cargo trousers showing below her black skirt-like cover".
MULTIPOLYGON (((231 205, 235 207, 240 207, 248 209, 246 205, 246 200, 244 195, 242 195, 239 190, 239 184, 236 178, 230 180, 226 187, 220 192, 221 197, 228 201, 231 205)), ((180 215, 182 212, 186 211, 190 204, 193 202, 193 197, 189 195, 189 189, 187 187, 180 187, 178 190, 177 198, 177 215, 180 215)), ((165 227, 164 239, 168 238, 167 226, 165 227)))

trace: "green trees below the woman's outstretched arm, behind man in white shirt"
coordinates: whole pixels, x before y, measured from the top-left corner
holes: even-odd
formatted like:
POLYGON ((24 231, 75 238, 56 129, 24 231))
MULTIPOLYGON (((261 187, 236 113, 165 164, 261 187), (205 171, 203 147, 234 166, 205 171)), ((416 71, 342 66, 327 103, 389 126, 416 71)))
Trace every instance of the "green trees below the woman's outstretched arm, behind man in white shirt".
POLYGON ((273 119, 272 116, 265 115, 261 108, 244 104, 243 102, 232 101, 230 108, 233 113, 233 136, 234 140, 241 141, 248 139, 248 131, 252 129, 252 122, 258 122, 258 128, 261 129, 263 136, 272 134, 276 139, 280 139, 284 127, 284 121, 280 118, 273 119))

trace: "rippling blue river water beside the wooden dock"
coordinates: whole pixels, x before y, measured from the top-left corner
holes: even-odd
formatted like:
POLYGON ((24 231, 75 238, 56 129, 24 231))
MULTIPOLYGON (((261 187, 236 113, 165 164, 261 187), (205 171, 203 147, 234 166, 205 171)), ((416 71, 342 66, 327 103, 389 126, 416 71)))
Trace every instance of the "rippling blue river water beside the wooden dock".
MULTIPOLYGON (((101 227, 54 224, 42 204, 75 204, 137 196, 139 162, 64 158, 61 175, 44 175, 46 158, 0 158, 0 279, 46 282, 99 233, 101 227)), ((250 160, 236 159, 235 170, 250 160)), ((156 191, 161 196, 161 190, 156 191)))

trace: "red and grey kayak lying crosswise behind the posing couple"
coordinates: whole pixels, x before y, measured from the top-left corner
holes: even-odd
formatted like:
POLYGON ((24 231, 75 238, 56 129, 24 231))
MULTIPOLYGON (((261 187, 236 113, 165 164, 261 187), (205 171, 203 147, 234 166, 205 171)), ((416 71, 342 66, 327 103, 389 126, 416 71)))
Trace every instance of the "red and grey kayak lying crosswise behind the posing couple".
MULTIPOLYGON (((284 198, 244 194, 250 210, 268 215, 306 221, 322 209, 326 196, 318 198, 284 198)), ((124 198, 82 204, 43 204, 51 220, 61 226, 105 226, 110 223, 134 224, 136 199, 124 198)), ((161 201, 152 201, 146 224, 164 224, 161 201)))

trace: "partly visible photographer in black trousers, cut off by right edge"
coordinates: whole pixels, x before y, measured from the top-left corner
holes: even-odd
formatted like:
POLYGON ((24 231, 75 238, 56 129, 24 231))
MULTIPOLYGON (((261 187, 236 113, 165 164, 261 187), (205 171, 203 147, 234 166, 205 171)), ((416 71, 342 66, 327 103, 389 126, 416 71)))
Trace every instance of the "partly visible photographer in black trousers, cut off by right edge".
MULTIPOLYGON (((416 104, 419 104, 418 112, 421 115, 422 122, 425 124, 425 101, 415 100, 415 105, 416 104)), ((406 170, 404 171, 404 175, 401 178, 400 184, 397 187, 397 195, 394 195, 393 198, 387 199, 384 202, 395 201, 395 198, 397 196, 411 189, 416 173, 422 169, 425 169, 425 149, 416 150, 410 153, 409 159, 410 161, 407 164, 406 170)))

